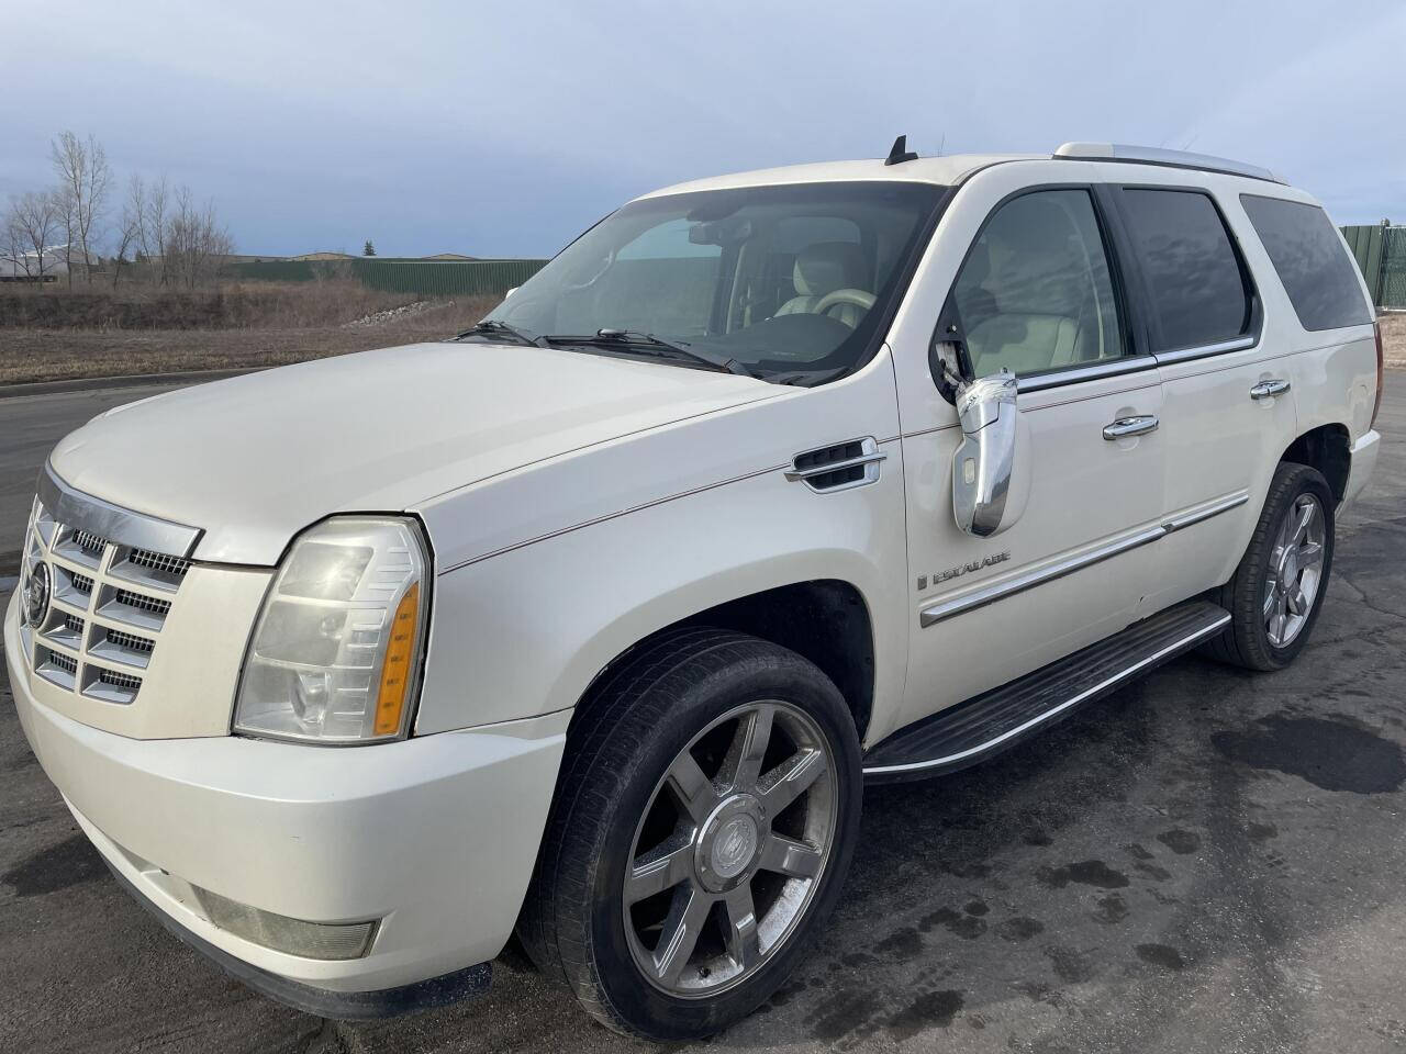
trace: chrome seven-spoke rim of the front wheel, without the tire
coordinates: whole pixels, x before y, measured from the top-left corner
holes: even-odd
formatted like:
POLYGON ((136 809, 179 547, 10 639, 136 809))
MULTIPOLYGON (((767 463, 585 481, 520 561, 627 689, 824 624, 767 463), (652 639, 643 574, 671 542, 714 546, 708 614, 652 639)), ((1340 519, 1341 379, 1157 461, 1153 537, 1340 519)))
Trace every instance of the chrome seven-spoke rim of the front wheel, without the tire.
POLYGON ((636 828, 623 888, 651 985, 717 995, 794 933, 835 839, 834 773, 820 725, 776 700, 723 714, 679 752, 636 828))

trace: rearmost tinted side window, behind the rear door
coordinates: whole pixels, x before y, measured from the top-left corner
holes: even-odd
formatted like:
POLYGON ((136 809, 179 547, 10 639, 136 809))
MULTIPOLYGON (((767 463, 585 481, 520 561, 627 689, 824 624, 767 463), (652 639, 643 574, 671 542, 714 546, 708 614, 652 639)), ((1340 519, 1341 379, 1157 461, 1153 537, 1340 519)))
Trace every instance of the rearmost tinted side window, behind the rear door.
POLYGON ((1303 329, 1340 329, 1372 320, 1357 264, 1323 209, 1257 194, 1241 194, 1240 204, 1303 329))

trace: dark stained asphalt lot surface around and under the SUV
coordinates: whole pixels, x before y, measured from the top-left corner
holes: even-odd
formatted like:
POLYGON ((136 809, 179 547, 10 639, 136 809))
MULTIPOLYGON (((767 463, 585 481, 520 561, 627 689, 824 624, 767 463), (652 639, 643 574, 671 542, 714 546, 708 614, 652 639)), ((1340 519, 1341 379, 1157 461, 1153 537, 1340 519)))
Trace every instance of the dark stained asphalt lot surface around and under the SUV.
MULTIPOLYGON (((18 548, 49 445, 145 393, 0 402, 0 554, 18 548)), ((1185 658, 983 767, 866 791, 828 930, 792 984, 706 1046, 1406 1048, 1406 375, 1389 375, 1378 427, 1376 476, 1340 523, 1327 607, 1292 669, 1185 658)), ((0 802, 0 1050, 643 1048, 513 947, 488 996, 385 1022, 250 992, 117 887, 7 686, 0 802)))

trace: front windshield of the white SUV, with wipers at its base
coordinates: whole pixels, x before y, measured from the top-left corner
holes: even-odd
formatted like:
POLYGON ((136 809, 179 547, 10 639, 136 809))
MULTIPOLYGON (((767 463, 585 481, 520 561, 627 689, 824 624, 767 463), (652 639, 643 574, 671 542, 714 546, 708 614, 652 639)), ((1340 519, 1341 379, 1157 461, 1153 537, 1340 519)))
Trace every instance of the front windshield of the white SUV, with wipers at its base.
POLYGON ((668 358, 678 365, 707 368, 706 356, 769 381, 821 384, 868 360, 943 190, 817 183, 636 201, 485 322, 664 361, 652 337, 699 356, 668 358), (630 337, 602 340, 602 330, 630 337))

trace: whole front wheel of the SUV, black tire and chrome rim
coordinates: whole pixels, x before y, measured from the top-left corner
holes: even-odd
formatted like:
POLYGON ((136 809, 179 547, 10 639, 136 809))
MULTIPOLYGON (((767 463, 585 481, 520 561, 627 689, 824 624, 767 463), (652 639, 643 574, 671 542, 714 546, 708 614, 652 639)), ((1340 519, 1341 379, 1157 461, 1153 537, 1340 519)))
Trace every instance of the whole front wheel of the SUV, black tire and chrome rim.
POLYGON ((519 936, 616 1032, 710 1036, 780 987, 839 897, 853 718, 794 652, 688 628, 630 656, 578 721, 519 936))

